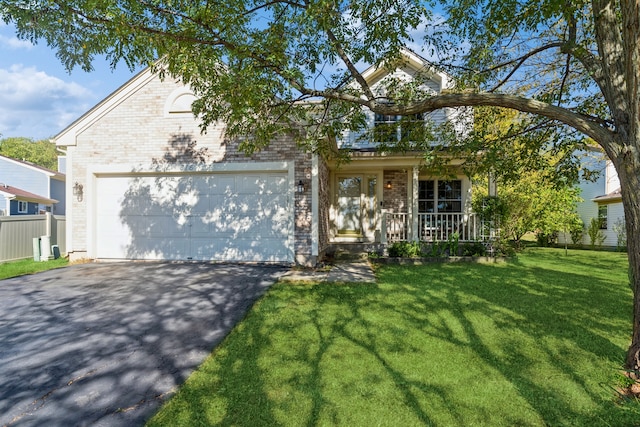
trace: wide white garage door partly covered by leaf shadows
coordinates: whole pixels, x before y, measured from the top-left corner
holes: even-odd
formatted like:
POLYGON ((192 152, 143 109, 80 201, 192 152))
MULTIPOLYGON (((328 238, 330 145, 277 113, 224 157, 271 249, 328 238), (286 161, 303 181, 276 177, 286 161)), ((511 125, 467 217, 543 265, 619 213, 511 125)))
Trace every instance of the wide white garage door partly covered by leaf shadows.
POLYGON ((283 173, 99 177, 98 258, 293 261, 283 173))

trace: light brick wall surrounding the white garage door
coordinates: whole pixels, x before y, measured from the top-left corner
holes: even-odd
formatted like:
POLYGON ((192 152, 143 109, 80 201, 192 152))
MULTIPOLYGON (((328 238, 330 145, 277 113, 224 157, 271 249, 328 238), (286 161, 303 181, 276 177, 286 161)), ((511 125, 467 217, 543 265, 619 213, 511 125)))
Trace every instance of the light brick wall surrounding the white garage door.
MULTIPOLYGON (((87 171, 96 165, 127 164, 132 171, 153 170, 155 165, 193 163, 295 162, 295 183, 306 182, 305 192, 295 194, 296 259, 311 254, 311 155, 300 152, 286 135, 272 141, 270 147, 247 157, 238 150, 237 141, 224 139, 224 128, 212 126, 202 134, 190 113, 168 114, 166 103, 182 87, 167 78, 148 80, 135 93, 100 117, 76 136, 76 146, 68 147, 68 164, 73 182, 87 185, 87 171)), ((81 121, 80 121, 81 122, 81 121)), ((70 198, 74 254, 82 258, 87 251, 87 203, 70 198)))

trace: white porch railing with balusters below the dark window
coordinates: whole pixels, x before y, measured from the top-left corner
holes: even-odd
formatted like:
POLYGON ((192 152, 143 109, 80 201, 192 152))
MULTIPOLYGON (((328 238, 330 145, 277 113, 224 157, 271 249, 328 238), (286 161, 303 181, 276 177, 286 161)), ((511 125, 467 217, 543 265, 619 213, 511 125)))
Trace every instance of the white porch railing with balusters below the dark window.
POLYGON ((483 226, 474 213, 421 213, 414 222, 408 213, 385 212, 382 223, 382 234, 387 243, 442 241, 448 240, 454 233, 458 233, 461 242, 487 240, 490 237, 489 227, 483 226), (415 230, 412 229, 414 227, 415 230))

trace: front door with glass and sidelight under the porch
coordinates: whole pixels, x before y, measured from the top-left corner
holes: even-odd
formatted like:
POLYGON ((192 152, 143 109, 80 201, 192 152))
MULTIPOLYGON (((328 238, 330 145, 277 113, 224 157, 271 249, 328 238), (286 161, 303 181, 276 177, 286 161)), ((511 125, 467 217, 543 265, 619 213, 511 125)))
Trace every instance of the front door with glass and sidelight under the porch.
POLYGON ((377 225, 377 176, 338 175, 338 235, 374 238, 377 225))

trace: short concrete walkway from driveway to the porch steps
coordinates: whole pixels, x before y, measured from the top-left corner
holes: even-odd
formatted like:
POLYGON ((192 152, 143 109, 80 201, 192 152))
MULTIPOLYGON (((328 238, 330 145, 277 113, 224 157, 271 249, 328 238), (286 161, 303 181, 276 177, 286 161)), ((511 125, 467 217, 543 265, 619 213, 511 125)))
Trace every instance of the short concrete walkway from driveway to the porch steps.
POLYGON ((375 283, 376 276, 366 259, 340 261, 329 271, 290 270, 280 278, 282 281, 298 282, 357 282, 375 283))

